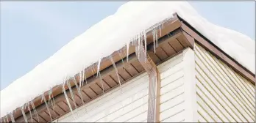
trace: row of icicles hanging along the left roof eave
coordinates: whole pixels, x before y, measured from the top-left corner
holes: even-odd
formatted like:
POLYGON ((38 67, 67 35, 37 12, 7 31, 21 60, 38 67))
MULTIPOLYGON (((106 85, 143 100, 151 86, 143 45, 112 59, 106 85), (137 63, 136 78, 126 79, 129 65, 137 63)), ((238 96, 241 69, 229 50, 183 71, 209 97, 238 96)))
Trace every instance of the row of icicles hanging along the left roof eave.
MULTIPOLYGON (((158 30, 160 31, 159 34, 160 34, 160 37, 161 37, 161 30, 163 29, 163 23, 165 23, 169 19, 170 18, 168 18, 166 20, 163 20, 161 23, 157 23, 156 25, 152 26, 151 28, 149 28, 147 30, 144 30, 142 33, 135 35, 135 37, 133 37, 132 40, 130 40, 130 42, 127 42, 127 45, 126 45, 126 49, 127 49, 127 51, 126 51, 127 52, 126 59, 127 59, 127 62, 129 61, 128 60, 129 46, 132 46, 132 45, 135 45, 135 46, 136 45, 142 45, 144 43, 144 48, 145 48, 145 53, 146 53, 146 36, 147 36, 147 33, 150 32, 150 31, 152 32, 152 36, 153 36, 153 43, 154 43, 153 45, 154 45, 154 53, 155 53, 155 48, 157 47, 158 30)), ((138 48, 140 48, 140 47, 138 47, 138 48)), ((124 50, 125 48, 122 48, 122 49, 124 50)), ((141 49, 138 49, 138 51, 140 51, 140 50, 141 49)), ((125 51, 118 51, 118 55, 121 57, 121 60, 122 60, 122 62, 124 64, 124 60, 122 59, 123 58, 123 54, 122 54, 123 52, 125 53, 125 51)), ((140 57, 138 56, 138 58, 140 58, 140 57)), ((109 59, 110 59, 110 61, 113 64, 113 67, 115 69, 115 74, 118 77, 118 83, 119 83, 119 86, 120 86, 120 89, 121 89, 121 81, 120 81, 120 78, 119 78, 119 75, 118 75, 118 68, 116 67, 115 62, 114 62, 114 60, 113 60, 111 55, 109 56, 109 59)), ((79 81, 79 85, 77 84, 77 82, 74 82, 75 83, 75 87, 77 88, 77 92, 79 94, 79 97, 82 100, 82 105, 85 105, 85 102, 84 102, 84 100, 82 98, 81 87, 84 86, 84 82, 87 84, 86 74, 85 73, 88 72, 88 70, 91 70, 91 72, 93 72, 93 73, 96 72, 96 77, 99 77, 100 80, 101 80, 100 82, 102 83, 102 75, 100 74, 100 70, 99 70, 100 69, 101 61, 102 61, 102 59, 99 59, 99 62, 98 62, 98 65, 97 65, 97 70, 95 70, 94 67, 92 67, 92 66, 90 68, 86 68, 85 69, 85 66, 84 66, 82 72, 79 72, 79 80, 80 80, 79 81)), ((65 90, 65 83, 68 85, 68 89, 69 89, 70 94, 71 94, 71 99, 73 100, 73 103, 75 105, 75 109, 77 109, 77 105, 75 103, 76 100, 74 98, 74 94, 73 94, 72 89, 71 89, 71 84, 68 81, 67 77, 65 78, 65 81, 63 83, 63 93, 64 93, 64 96, 65 96, 65 100, 68 103, 68 108, 70 109, 70 111, 72 113, 72 116, 76 120, 76 116, 74 116, 74 111, 71 108, 71 103, 68 100, 68 95, 67 95, 66 90, 65 90)), ((103 83, 102 83, 102 89, 103 89, 103 96, 104 96, 104 86, 103 86, 103 83)), ((54 101, 54 96, 52 94, 52 90, 51 89, 49 90, 49 100, 48 100, 48 103, 47 103, 47 100, 46 100, 46 98, 44 96, 42 96, 41 103, 43 103, 43 101, 46 104, 47 111, 49 112, 49 116, 51 118, 51 113, 50 113, 50 110, 49 110, 49 105, 52 106, 53 110, 55 109, 55 101, 54 101)), ((39 117, 38 117, 38 112, 35 109, 35 105, 34 105, 33 101, 29 101, 29 103, 26 103, 25 105, 23 105, 21 107, 21 113, 24 116, 24 122, 29 122, 27 117, 26 117, 26 113, 24 111, 26 108, 28 108, 31 122, 33 122, 32 121, 33 120, 32 119, 32 111, 30 110, 30 105, 29 104, 32 105, 32 110, 34 111, 34 115, 36 116, 36 119, 38 119, 38 122, 40 122, 39 117)), ((15 110, 15 113, 16 113, 16 111, 17 111, 17 109, 15 110)), ((86 111, 86 108, 85 108, 85 111, 86 111)), ((10 115, 11 122, 15 122, 15 119, 14 119, 14 116, 13 116, 13 112, 11 112, 10 114, 7 114, 7 116, 3 117, 4 122, 10 122, 9 119, 8 119, 9 115, 10 115)), ((52 121, 52 118, 51 118, 51 121, 52 121)))

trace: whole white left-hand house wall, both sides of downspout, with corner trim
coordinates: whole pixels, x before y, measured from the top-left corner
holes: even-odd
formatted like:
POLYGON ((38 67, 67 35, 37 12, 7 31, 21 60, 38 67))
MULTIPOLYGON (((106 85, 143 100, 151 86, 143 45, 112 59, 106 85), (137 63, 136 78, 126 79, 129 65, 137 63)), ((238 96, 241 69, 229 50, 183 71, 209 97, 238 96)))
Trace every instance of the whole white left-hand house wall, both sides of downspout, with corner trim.
MULTIPOLYGON (((192 113, 191 104, 193 103, 185 100, 191 100, 190 91, 192 88, 191 85, 185 83, 185 80, 195 80, 195 74, 193 72, 193 74, 185 75, 185 73, 194 70, 194 65, 193 67, 188 67, 191 65, 188 63, 194 62, 194 60, 187 59, 188 55, 185 54, 194 56, 191 49, 189 51, 185 50, 157 66, 162 80, 160 90, 161 122, 185 122, 191 121, 191 117, 193 117, 189 115, 189 113, 192 113), (191 79, 191 75, 194 79, 191 79)), ((189 81, 188 83, 190 83, 189 81)), ((68 113, 58 119, 58 122, 146 122, 148 86, 149 77, 146 73, 143 73, 124 83, 122 92, 119 87, 113 89, 104 94, 104 96, 74 110, 75 119, 71 113, 68 113)), ((196 105, 195 89, 196 86, 194 84, 193 98, 196 105)), ((196 108, 194 109, 196 111, 196 108)))

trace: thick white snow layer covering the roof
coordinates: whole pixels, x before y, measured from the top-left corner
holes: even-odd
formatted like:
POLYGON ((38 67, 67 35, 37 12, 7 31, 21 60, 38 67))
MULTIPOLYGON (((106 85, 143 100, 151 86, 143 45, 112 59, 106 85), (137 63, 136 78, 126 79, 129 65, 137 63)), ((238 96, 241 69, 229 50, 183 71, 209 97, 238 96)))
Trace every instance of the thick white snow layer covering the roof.
POLYGON ((186 1, 130 1, 3 89, 1 116, 63 83, 66 76, 72 77, 82 68, 118 51, 136 34, 171 18, 174 12, 255 73, 255 41, 249 37, 208 22, 186 1))

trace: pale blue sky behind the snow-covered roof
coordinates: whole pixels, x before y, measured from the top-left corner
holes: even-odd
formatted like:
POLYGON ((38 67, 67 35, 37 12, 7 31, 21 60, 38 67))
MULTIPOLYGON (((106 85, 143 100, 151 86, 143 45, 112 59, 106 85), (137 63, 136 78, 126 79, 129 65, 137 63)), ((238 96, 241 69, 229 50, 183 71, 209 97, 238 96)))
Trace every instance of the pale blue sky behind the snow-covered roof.
MULTIPOLYGON (((1 89, 126 1, 1 1, 1 89)), ((255 40, 254 1, 189 1, 210 22, 255 40)))

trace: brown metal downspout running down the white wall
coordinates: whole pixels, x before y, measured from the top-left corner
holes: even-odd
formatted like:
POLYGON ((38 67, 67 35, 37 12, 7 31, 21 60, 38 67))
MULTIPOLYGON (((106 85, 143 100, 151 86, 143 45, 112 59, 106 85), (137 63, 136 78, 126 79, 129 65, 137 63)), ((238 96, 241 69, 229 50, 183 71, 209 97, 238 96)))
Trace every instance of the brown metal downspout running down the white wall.
POLYGON ((149 75, 149 100, 147 122, 160 122, 160 74, 157 65, 146 55, 143 43, 136 45, 138 61, 149 75))

